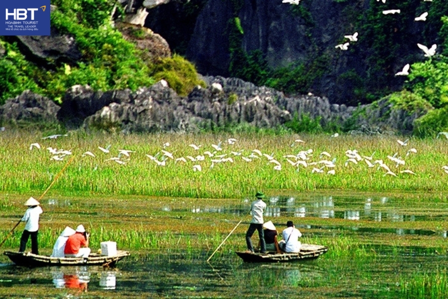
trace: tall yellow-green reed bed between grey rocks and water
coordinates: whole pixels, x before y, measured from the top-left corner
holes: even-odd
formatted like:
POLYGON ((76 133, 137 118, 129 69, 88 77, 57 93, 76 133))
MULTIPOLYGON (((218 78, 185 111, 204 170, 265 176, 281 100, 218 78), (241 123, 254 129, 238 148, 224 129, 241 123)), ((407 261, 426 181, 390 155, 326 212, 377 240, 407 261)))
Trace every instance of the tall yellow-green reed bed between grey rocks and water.
MULTIPOLYGON (((448 164, 448 141, 443 139, 412 139, 408 146, 397 143, 397 137, 366 137, 328 135, 313 136, 266 136, 245 134, 230 135, 85 135, 69 134, 57 139, 41 139, 42 133, 10 132, 0 134, 0 191, 36 193, 45 190, 55 175, 63 168, 71 156, 73 162, 67 167, 52 186, 52 191, 64 195, 83 194, 123 194, 176 196, 192 198, 240 198, 253 195, 256 190, 353 190, 353 191, 447 191, 445 183, 447 173, 442 167, 448 164), (228 144, 228 138, 237 139, 235 144, 228 144), (294 142, 297 139, 305 143, 294 142), (29 149, 32 143, 39 143, 41 149, 29 149), (212 145, 221 142, 222 150, 215 150, 212 145), (163 146, 169 143, 169 146, 163 146), (201 145, 199 150, 189 144, 201 145), (110 152, 104 153, 98 147, 111 145, 110 152), (51 159, 53 154, 47 148, 66 149, 72 155, 62 160, 51 159), (409 152, 414 148, 417 153, 409 152), (118 164, 113 157, 118 156, 118 149, 134 152, 129 157, 121 156, 124 164, 118 164), (251 158, 246 162, 241 157, 248 157, 253 149, 263 154, 272 155, 281 163, 281 170, 275 170, 275 163, 269 163, 266 156, 251 158), (302 150, 312 149, 307 162, 319 162, 323 159, 336 158, 334 168, 323 168, 323 173, 313 173, 313 167, 321 168, 323 164, 303 167, 292 166, 285 155, 297 154, 302 150), (382 159, 397 177, 386 175, 383 168, 368 167, 363 160, 357 164, 346 162, 346 150, 354 150, 361 156, 382 159), (162 160, 162 150, 173 154, 167 157, 165 165, 158 165, 146 156, 156 155, 162 160), (204 154, 214 152, 214 157, 204 154), (91 151, 95 157, 84 155, 91 151), (327 151, 331 157, 320 153, 327 151), (238 155, 233 153, 238 152, 238 155), (157 155, 158 153, 158 155, 157 155), (239 155, 239 153, 241 153, 239 155), (395 153, 405 160, 405 165, 395 166, 387 158, 395 153), (226 154, 233 162, 212 162, 219 154, 226 154), (176 161, 176 158, 203 155, 204 160, 176 161), (194 171, 193 165, 202 166, 202 171, 194 171), (335 174, 327 174, 330 169, 335 174), (410 169, 416 174, 400 173, 410 169)), ((403 139, 403 138, 402 138, 403 139)), ((292 159, 292 158, 290 158, 292 159)))

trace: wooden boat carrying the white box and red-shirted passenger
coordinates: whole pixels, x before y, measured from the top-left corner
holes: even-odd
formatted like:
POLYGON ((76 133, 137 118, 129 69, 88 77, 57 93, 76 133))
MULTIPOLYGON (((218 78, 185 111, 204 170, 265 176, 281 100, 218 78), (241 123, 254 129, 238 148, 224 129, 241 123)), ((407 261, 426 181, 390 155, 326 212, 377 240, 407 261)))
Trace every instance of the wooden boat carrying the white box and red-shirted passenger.
POLYGON ((114 256, 102 256, 98 253, 91 253, 88 258, 53 258, 32 254, 30 252, 3 252, 14 264, 26 267, 42 266, 79 266, 79 265, 99 265, 112 267, 119 260, 130 255, 127 251, 118 250, 114 256))

